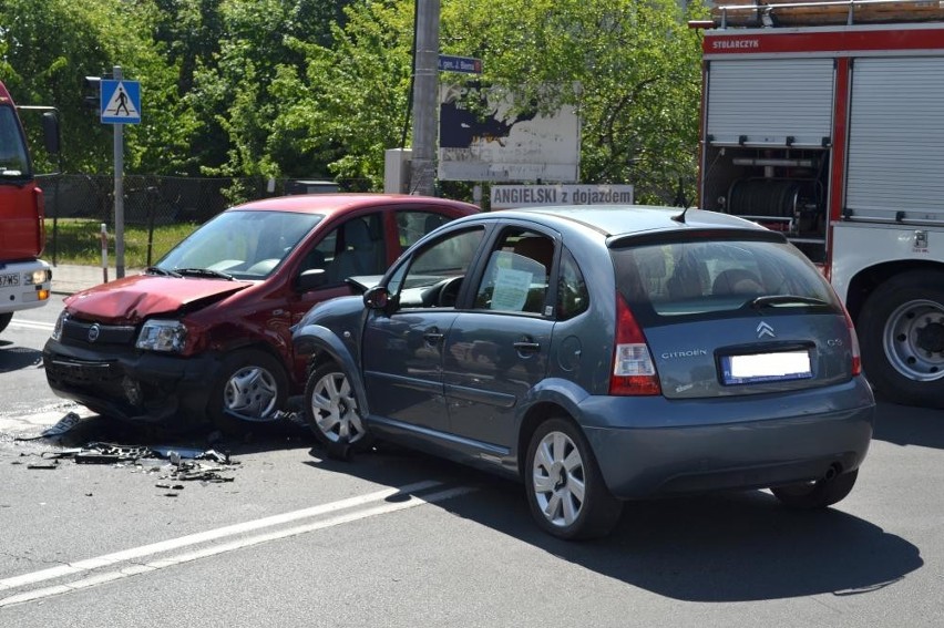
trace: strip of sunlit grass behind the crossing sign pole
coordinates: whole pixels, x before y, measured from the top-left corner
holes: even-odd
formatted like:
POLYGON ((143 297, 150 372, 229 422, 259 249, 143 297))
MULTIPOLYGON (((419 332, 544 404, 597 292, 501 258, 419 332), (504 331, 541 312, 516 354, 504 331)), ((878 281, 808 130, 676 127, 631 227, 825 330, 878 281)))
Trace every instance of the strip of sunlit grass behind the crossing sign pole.
MULTIPOLYGON (((53 233, 52 218, 45 220, 45 251, 43 258, 55 259, 57 264, 101 266, 101 223, 85 218, 59 218, 53 233)), ((199 225, 181 223, 155 225, 151 239, 150 264, 154 264, 178 241, 191 235, 199 225)), ((147 227, 125 225, 124 265, 126 268, 144 268, 148 265, 147 227)), ((115 264, 115 234, 109 227, 109 266, 115 264)))

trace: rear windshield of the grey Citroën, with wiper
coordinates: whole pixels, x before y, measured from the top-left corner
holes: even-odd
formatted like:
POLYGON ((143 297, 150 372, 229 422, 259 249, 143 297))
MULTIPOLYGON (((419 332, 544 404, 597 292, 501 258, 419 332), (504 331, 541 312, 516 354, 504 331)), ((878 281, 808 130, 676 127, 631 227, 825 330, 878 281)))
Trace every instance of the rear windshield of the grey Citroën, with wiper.
POLYGON ((835 292, 796 247, 756 240, 646 244, 610 251, 617 286, 643 325, 742 309, 841 312, 835 292))

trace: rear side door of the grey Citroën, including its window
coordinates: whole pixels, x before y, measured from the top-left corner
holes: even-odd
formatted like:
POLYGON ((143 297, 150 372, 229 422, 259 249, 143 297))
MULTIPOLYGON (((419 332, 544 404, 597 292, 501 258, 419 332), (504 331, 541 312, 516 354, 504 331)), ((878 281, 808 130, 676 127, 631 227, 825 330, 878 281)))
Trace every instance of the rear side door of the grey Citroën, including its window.
POLYGON ((554 308, 554 239, 505 227, 484 272, 452 323, 443 383, 453 434, 479 445, 514 442, 515 412, 547 372, 554 308))

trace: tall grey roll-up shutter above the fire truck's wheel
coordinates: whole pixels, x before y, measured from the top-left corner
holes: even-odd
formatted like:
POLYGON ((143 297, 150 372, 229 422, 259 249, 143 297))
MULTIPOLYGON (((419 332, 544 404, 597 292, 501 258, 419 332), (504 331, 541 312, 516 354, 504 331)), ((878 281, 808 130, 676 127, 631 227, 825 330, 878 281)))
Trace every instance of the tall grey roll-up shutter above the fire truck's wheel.
POLYGON ((851 93, 852 218, 944 219, 944 56, 855 59, 851 93))

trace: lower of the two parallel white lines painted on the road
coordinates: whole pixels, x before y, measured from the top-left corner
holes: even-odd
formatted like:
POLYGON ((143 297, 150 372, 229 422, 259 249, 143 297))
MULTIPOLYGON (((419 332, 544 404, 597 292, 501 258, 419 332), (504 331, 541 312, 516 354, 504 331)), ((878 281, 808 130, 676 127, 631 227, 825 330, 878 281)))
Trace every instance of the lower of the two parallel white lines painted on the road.
MULTIPOLYGON (((431 484, 439 485, 440 482, 428 482, 421 484, 431 484)), ((406 488, 406 487, 404 487, 406 488)), ((3 599, 0 599, 0 608, 6 606, 12 606, 14 604, 23 604, 27 601, 35 601, 38 599, 43 599, 57 595, 62 595, 65 593, 71 593, 74 590, 81 590, 94 586, 99 586, 105 583, 113 583, 119 579, 129 578, 131 576, 137 576, 141 574, 150 574, 156 572, 158 569, 166 569, 167 567, 174 567, 177 565, 182 565, 184 563, 189 563, 193 560, 199 560, 202 558, 208 558, 211 556, 217 556, 219 554, 226 554, 228 552, 235 552, 237 549, 244 549, 246 547, 252 547, 254 545, 259 545, 263 543, 268 543, 271 541, 279 541, 283 538, 288 538, 291 536, 298 536, 301 534, 307 534, 310 532, 316 532, 319 529, 325 529, 329 527, 335 527, 338 525, 352 523, 359 519, 365 519, 368 517, 394 513, 398 511, 404 511, 407 508, 414 508, 417 506, 422 506, 425 504, 432 504, 435 502, 441 502, 444 500, 449 500, 452 497, 458 497, 459 495, 464 495, 468 493, 474 492, 476 488, 472 486, 458 486, 454 488, 447 488, 440 491, 438 493, 432 493, 430 495, 425 495, 423 497, 417 497, 414 495, 410 495, 410 497, 403 502, 391 502, 388 504, 373 506, 360 511, 356 511, 352 513, 346 513, 341 515, 334 516, 331 518, 315 522, 306 525, 295 526, 287 529, 269 532, 266 534, 259 534, 256 536, 250 536, 240 541, 234 541, 230 543, 226 543, 223 545, 216 545, 206 547, 203 549, 197 549, 194 552, 189 552, 186 554, 179 554, 174 557, 163 558, 160 560, 154 560, 147 563, 145 565, 130 565, 127 567, 116 569, 114 572, 107 572, 104 574, 94 574, 86 578, 82 578, 80 580, 74 580, 72 583, 66 583, 62 585, 45 587, 41 589, 34 589, 31 591, 25 591, 22 594, 13 595, 3 599)), ((398 491, 394 491, 394 494, 398 491)), ((389 494, 389 492, 386 492, 389 494)), ((300 512, 300 511, 299 511, 300 512)))

